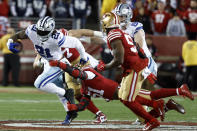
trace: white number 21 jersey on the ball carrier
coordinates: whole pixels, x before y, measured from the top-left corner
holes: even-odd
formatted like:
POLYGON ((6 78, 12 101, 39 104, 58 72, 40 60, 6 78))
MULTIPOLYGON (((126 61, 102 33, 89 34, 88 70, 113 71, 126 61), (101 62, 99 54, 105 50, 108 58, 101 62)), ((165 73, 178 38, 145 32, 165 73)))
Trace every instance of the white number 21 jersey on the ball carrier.
POLYGON ((52 34, 45 42, 38 39, 35 24, 28 26, 25 33, 34 44, 40 56, 47 60, 60 60, 63 58, 62 48, 76 48, 81 58, 85 60, 87 58, 81 42, 77 38, 64 36, 60 31, 56 31, 56 33, 52 34))

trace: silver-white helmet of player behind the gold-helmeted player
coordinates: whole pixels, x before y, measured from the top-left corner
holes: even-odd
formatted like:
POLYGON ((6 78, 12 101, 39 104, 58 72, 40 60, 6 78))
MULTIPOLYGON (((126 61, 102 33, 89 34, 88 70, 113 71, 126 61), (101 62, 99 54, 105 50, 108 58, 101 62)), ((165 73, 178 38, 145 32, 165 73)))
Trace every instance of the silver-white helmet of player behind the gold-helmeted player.
POLYGON ((125 26, 133 17, 133 11, 129 4, 119 4, 114 12, 119 17, 123 17, 123 19, 120 20, 120 26, 125 26))

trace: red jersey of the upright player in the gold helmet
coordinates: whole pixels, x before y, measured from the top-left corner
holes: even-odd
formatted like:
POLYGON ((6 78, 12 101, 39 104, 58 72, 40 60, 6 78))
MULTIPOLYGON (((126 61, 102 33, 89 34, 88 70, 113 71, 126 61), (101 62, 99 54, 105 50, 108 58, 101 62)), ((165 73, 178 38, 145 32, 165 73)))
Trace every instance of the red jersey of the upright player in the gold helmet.
POLYGON ((122 41, 124 48, 124 61, 122 67, 125 73, 129 73, 131 70, 139 72, 148 65, 148 59, 142 59, 138 55, 136 46, 129 34, 122 32, 120 29, 113 29, 108 33, 107 44, 109 49, 112 50, 110 43, 116 39, 122 41))

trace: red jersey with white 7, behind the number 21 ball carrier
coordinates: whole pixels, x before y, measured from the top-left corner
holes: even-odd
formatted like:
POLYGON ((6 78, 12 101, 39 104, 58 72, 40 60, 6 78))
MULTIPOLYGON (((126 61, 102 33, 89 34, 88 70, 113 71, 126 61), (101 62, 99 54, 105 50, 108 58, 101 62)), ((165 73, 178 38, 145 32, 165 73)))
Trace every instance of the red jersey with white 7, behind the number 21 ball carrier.
MULTIPOLYGON (((68 31, 66 29, 61 28, 59 31, 62 32, 65 36, 68 36, 68 31)), ((70 63, 77 60, 77 58, 79 58, 80 56, 79 52, 75 48, 64 48, 62 49, 62 51, 64 51, 64 56, 70 63)))

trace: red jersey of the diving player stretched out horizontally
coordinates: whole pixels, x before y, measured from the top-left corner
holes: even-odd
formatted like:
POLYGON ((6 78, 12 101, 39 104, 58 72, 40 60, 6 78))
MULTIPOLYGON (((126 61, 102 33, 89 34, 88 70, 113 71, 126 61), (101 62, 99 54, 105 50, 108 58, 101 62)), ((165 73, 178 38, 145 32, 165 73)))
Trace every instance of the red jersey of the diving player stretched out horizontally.
POLYGON ((112 100, 115 91, 118 88, 118 83, 105 78, 93 68, 86 68, 83 71, 90 71, 95 74, 91 80, 83 80, 81 92, 83 94, 91 95, 92 97, 103 97, 112 100))

